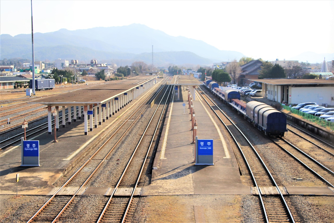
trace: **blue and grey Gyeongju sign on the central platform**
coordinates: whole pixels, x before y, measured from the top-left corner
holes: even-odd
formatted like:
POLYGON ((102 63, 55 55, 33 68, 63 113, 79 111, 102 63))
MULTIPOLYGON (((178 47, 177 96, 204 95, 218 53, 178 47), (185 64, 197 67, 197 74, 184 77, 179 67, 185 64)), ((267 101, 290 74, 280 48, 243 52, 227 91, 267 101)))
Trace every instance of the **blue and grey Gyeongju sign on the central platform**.
POLYGON ((213 139, 195 140, 195 165, 213 164, 213 139))

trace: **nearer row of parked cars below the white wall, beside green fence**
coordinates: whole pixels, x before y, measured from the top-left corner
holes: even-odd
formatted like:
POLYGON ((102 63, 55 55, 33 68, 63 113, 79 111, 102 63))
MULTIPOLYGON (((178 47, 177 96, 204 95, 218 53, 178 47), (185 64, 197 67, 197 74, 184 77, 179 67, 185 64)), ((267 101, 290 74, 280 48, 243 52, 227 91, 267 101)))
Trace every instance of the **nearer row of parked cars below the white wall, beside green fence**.
POLYGON ((303 102, 293 106, 297 110, 334 122, 334 107, 324 107, 315 102, 303 102))

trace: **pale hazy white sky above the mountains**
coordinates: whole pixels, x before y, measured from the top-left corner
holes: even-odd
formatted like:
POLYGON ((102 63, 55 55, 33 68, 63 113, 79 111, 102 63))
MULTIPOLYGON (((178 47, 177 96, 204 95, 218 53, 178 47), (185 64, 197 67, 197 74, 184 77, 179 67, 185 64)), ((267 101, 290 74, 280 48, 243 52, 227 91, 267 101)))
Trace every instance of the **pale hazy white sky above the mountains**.
MULTIPOLYGON (((334 0, 33 0, 32 6, 34 33, 140 23, 253 58, 334 53, 334 0)), ((31 33, 30 0, 0 0, 0 34, 21 33, 31 33)))

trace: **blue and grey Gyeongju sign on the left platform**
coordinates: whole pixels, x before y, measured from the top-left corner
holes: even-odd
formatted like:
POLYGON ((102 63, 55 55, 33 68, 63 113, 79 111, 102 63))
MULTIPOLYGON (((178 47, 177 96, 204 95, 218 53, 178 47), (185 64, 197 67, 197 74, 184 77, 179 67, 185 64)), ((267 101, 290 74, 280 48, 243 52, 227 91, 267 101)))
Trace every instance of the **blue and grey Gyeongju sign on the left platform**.
POLYGON ((21 166, 39 165, 39 140, 23 140, 21 138, 21 166))

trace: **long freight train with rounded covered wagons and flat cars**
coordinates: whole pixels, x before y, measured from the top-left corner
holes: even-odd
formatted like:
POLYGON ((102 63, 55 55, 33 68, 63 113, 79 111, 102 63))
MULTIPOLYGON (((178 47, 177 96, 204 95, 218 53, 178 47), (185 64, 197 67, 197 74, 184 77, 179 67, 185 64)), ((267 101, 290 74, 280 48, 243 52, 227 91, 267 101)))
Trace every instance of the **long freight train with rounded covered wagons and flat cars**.
POLYGON ((204 81, 203 85, 265 135, 284 136, 288 131, 286 115, 274 107, 259 101, 240 100, 239 91, 224 91, 212 80, 204 81))

